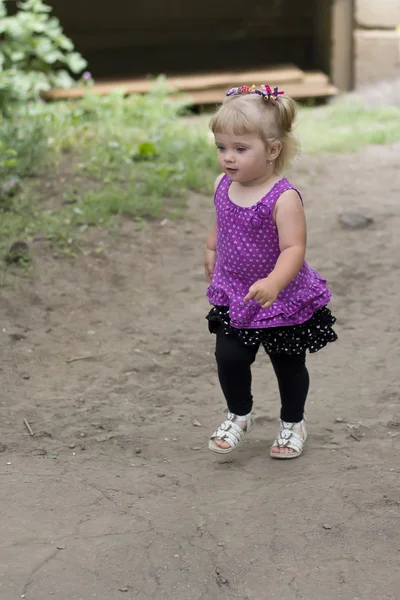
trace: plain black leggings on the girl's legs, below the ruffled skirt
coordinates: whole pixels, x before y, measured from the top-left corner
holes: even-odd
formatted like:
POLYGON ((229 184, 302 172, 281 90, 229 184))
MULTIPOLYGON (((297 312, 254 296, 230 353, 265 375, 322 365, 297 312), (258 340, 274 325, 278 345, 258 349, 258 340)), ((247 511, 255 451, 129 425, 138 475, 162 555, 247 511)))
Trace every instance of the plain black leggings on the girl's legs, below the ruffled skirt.
MULTIPOLYGON (((251 365, 260 345, 244 346, 234 335, 226 335, 219 327, 215 358, 218 377, 230 412, 247 415, 253 406, 251 395, 251 365)), ((272 366, 281 395, 281 419, 299 423, 304 416, 310 378, 306 353, 271 354, 272 366)))

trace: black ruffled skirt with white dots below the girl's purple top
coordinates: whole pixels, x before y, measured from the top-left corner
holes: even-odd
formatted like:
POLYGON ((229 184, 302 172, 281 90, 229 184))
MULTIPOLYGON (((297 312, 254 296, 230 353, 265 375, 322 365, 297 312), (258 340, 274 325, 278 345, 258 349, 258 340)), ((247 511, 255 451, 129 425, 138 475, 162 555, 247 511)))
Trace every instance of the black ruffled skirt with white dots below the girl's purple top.
POLYGON ((268 354, 301 354, 318 352, 338 338, 332 325, 336 319, 329 308, 317 310, 311 319, 300 325, 237 329, 230 324, 229 306, 214 306, 207 315, 210 333, 222 327, 226 335, 236 335, 245 346, 262 344, 268 354))

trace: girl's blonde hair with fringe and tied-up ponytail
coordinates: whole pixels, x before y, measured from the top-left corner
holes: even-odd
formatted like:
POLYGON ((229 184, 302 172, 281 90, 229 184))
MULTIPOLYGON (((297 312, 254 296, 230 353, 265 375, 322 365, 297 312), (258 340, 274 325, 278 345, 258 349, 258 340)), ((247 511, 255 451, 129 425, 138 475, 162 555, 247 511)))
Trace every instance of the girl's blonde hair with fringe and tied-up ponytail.
POLYGON ((210 129, 215 133, 245 135, 254 133, 268 148, 279 141, 282 149, 275 160, 278 173, 284 171, 298 154, 300 144, 293 133, 296 119, 296 103, 289 96, 282 95, 276 104, 266 101, 258 94, 227 96, 210 121, 210 129))

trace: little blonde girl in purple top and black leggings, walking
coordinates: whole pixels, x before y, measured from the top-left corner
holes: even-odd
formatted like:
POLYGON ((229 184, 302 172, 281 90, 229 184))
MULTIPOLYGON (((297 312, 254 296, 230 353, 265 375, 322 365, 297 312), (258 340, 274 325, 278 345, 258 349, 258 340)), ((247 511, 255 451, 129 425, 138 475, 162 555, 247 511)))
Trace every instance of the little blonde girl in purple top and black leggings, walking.
POLYGON ((296 458, 307 433, 306 350, 337 339, 326 281, 305 262, 306 220, 296 188, 281 175, 297 152, 295 102, 278 88, 230 90, 210 127, 223 171, 215 182, 216 223, 205 270, 218 376, 228 418, 209 448, 226 454, 254 427, 251 365, 262 345, 281 396, 271 456, 296 458))

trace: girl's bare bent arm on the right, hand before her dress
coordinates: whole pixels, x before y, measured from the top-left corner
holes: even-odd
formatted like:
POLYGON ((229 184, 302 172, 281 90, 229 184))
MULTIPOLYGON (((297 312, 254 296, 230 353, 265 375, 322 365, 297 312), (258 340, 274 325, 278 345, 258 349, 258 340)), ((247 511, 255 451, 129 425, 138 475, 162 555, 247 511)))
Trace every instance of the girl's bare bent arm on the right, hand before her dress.
POLYGON ((296 277, 306 254, 306 218, 295 190, 282 194, 276 203, 274 216, 281 254, 272 273, 265 279, 256 281, 244 298, 245 302, 254 298, 263 308, 269 308, 280 292, 296 277))

